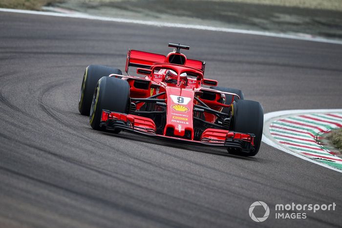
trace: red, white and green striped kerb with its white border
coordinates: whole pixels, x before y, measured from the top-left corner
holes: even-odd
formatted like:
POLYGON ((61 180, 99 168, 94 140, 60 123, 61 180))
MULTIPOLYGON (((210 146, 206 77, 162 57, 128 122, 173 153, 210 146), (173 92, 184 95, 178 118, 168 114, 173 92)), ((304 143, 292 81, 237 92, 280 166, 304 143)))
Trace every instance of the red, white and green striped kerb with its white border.
POLYGON ((342 127, 342 109, 286 110, 264 116, 262 141, 286 153, 342 172, 342 158, 320 141, 342 127))

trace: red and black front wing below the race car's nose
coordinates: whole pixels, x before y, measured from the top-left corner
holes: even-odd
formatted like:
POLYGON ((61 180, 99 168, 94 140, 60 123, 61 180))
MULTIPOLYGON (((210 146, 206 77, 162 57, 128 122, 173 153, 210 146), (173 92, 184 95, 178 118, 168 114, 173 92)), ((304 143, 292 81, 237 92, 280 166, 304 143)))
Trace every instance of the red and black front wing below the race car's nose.
POLYGON ((126 113, 102 111, 101 127, 107 130, 121 129, 160 139, 176 140, 189 144, 236 148, 243 152, 254 151, 254 134, 207 128, 199 141, 165 136, 156 133, 156 126, 150 118, 126 113))

